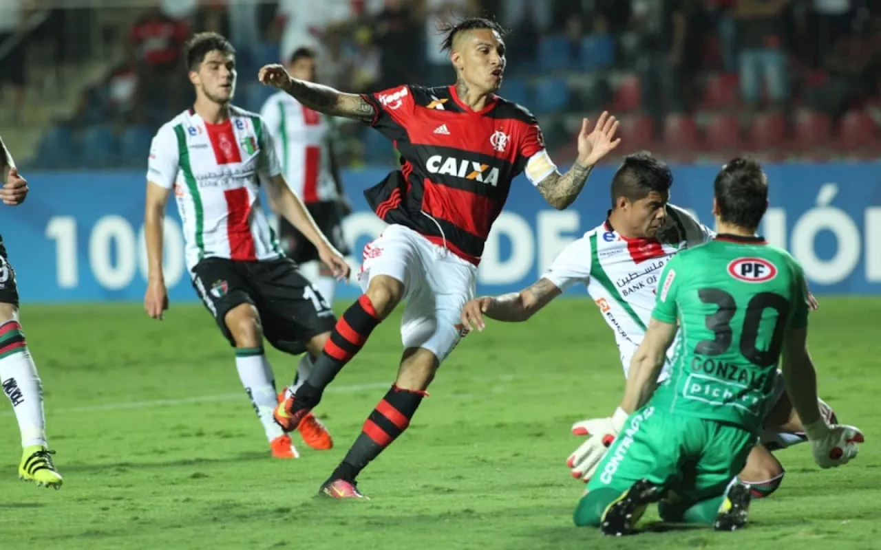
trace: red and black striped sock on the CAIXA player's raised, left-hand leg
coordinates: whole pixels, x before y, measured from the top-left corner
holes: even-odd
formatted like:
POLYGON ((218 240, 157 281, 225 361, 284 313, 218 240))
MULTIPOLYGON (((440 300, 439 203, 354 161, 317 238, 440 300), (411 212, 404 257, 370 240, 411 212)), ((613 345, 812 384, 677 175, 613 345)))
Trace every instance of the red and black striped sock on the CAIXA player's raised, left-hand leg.
POLYGON ((381 320, 366 294, 362 294, 357 302, 349 306, 343 317, 337 321, 337 326, 334 326, 321 355, 315 357, 309 378, 294 393, 296 399, 293 410, 313 408, 318 405, 324 388, 364 347, 367 336, 381 320))

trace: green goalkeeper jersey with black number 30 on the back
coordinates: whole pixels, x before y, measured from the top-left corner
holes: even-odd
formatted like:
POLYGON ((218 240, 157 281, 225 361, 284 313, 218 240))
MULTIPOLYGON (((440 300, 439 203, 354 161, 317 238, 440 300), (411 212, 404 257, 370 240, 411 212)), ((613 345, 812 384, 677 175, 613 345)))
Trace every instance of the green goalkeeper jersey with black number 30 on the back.
POLYGON ((758 432, 773 406, 787 328, 803 328, 802 267, 761 238, 721 235, 664 268, 652 316, 678 321, 670 378, 650 403, 758 432))

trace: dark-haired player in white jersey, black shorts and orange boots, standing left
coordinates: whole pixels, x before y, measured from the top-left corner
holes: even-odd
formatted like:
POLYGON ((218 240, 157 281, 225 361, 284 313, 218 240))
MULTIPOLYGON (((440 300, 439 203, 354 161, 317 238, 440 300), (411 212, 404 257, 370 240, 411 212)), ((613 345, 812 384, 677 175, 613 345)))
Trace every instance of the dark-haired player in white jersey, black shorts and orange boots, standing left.
MULTIPOLYGON (((159 128, 150 150, 144 218, 150 268, 144 307, 152 318, 162 319, 168 306, 162 224, 174 190, 186 221, 193 287, 236 348, 236 369, 272 456, 297 458, 290 436, 272 420, 278 397, 263 337, 292 355, 307 351, 315 356, 337 319, 285 257, 263 212, 259 189, 267 189, 278 212, 315 245, 337 277, 348 277, 349 266, 285 183, 263 119, 230 104, 236 84, 233 46, 217 33, 199 33, 187 43, 186 59, 196 103, 159 128)), ((316 449, 332 444, 315 416, 300 426, 300 435, 316 449)))

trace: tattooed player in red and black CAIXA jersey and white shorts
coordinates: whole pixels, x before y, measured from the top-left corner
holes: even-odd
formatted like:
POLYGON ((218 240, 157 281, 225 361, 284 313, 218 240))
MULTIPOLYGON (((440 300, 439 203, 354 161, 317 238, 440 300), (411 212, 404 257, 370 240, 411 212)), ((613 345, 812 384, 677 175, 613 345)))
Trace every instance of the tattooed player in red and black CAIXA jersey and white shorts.
POLYGON ((444 48, 457 81, 446 87, 401 85, 358 95, 292 78, 280 65, 260 70, 263 84, 315 111, 369 123, 402 156, 400 170, 365 192, 389 223, 364 249, 359 281, 365 293, 337 322, 307 382, 275 412, 284 429, 295 429, 374 327, 406 303, 397 379, 322 485, 325 495, 364 497, 356 476, 407 428, 441 361, 464 334, 460 312, 474 296, 486 237, 515 176, 526 172, 548 203, 565 209, 593 166, 620 142, 614 117, 603 113, 593 131, 585 119, 578 158, 559 173, 535 117, 495 93, 506 64, 502 33, 485 18, 451 26, 444 48))

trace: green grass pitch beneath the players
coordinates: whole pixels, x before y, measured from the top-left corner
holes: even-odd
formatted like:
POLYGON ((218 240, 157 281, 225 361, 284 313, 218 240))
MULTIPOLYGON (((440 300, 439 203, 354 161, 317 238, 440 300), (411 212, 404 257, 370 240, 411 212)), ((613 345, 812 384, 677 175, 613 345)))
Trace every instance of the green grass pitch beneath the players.
MULTIPOLYGON (((362 474, 370 502, 315 493, 395 375, 397 317, 316 411, 334 449, 312 451, 295 435, 302 456, 285 461, 270 458, 233 350, 201 306, 172 304, 160 323, 137 304, 26 304, 65 481, 56 492, 17 479, 19 434, 3 400, 0 547, 878 547, 879 311, 877 298, 826 297, 811 314, 820 394, 866 435, 854 463, 822 471, 806 445, 781 451, 786 479, 753 501, 743 532, 603 539, 572 524, 583 485, 565 465, 580 441, 572 422, 610 414, 624 379, 611 331, 586 299, 465 338, 411 428, 362 474)), ((288 382, 296 359, 275 350, 270 359, 288 382)))

